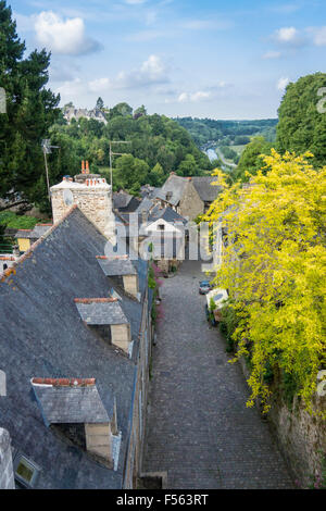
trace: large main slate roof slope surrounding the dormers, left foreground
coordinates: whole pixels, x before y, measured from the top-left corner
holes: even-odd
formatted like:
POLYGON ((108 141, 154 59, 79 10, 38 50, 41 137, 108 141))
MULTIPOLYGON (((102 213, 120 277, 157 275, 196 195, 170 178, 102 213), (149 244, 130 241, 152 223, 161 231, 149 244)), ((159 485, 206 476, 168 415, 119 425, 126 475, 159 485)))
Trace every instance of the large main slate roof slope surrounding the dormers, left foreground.
MULTIPOLYGON (((12 445, 41 468, 37 488, 121 488, 130 428, 139 344, 133 358, 121 356, 80 321, 74 298, 106 298, 113 281, 96 259, 108 240, 77 209, 37 241, 0 281, 0 366, 7 397, 0 424, 12 445), (95 462, 43 424, 32 377, 96 378, 109 414, 116 398, 122 446, 117 471, 95 462)), ((147 288, 147 263, 135 261, 140 302, 123 296, 121 307, 138 338, 147 288)), ((121 292, 121 291, 120 291, 121 292)))

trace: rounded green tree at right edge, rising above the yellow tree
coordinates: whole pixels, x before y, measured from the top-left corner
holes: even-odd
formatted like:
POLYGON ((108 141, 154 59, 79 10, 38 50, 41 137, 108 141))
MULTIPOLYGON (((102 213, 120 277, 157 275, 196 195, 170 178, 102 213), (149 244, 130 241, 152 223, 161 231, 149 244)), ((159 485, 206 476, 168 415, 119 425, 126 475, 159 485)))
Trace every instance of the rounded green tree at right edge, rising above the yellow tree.
POLYGON ((323 87, 325 73, 303 76, 288 85, 278 109, 277 149, 283 153, 310 151, 315 166, 326 163, 326 113, 317 108, 323 87))

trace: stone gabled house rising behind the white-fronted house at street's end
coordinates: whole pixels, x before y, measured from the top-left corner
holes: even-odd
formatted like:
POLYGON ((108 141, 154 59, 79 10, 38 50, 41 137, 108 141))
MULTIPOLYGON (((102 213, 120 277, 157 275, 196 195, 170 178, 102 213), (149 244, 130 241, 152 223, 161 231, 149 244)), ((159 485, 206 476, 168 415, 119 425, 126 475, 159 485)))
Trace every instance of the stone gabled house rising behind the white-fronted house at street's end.
POLYGON ((181 177, 172 172, 156 192, 155 202, 195 220, 217 197, 220 189, 212 185, 214 180, 216 178, 212 176, 181 177))

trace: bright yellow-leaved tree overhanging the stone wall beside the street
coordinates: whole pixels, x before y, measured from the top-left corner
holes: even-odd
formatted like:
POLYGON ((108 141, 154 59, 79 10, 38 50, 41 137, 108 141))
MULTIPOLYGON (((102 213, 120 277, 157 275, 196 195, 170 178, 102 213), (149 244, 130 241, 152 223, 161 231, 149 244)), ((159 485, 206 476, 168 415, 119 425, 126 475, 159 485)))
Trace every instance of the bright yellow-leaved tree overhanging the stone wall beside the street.
POLYGON ((260 397, 265 411, 267 370, 289 375, 312 410, 326 369, 326 167, 314 170, 309 158, 272 150, 244 188, 227 187, 216 171, 224 191, 202 219, 227 230, 215 283, 228 289, 235 308, 237 358, 251 359, 248 406, 260 397))

